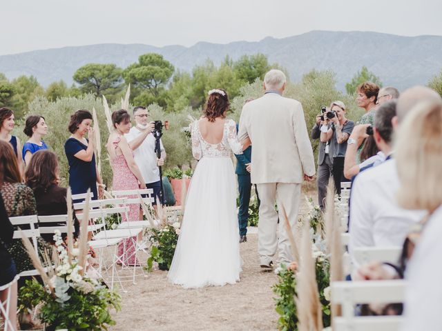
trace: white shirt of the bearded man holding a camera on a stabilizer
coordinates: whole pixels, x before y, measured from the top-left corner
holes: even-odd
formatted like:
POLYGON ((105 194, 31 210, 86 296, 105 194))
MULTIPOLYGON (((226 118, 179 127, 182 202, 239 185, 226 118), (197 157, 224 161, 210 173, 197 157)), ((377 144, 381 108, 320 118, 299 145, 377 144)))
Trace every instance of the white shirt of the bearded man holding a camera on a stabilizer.
MULTIPOLYGON (((130 142, 140 134, 142 132, 134 126, 129 133, 124 134, 124 137, 130 142)), ((163 152, 164 146, 161 139, 160 148, 163 152)), ((155 137, 153 137, 153 134, 147 135, 141 145, 133 151, 133 155, 146 184, 155 183, 155 181, 160 180, 160 170, 157 166, 157 154, 155 153, 155 137)))

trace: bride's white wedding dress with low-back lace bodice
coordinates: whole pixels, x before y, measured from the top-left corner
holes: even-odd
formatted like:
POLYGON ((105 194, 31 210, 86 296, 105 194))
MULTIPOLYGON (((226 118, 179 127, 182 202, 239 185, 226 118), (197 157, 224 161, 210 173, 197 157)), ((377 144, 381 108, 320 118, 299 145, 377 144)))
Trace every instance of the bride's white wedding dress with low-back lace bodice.
POLYGON ((204 141, 192 126, 192 152, 199 159, 186 199, 180 237, 167 278, 184 288, 233 284, 240 280, 240 235, 236 176, 231 150, 242 153, 236 124, 227 119, 222 141, 204 141))

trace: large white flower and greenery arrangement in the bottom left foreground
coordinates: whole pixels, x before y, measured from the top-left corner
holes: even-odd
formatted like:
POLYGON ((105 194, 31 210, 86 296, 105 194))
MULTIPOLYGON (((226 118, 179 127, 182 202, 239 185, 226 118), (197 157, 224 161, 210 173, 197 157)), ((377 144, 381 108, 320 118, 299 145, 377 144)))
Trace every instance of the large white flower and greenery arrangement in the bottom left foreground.
POLYGON ((119 294, 99 281, 92 269, 85 272, 80 258, 83 250, 73 246, 68 252, 58 230, 54 240, 55 270, 49 270, 48 277, 42 274, 45 285, 35 279, 26 281, 20 289, 19 309, 39 304, 39 319, 48 325, 46 330, 107 330, 108 325, 115 325, 108 310, 119 310, 119 294))

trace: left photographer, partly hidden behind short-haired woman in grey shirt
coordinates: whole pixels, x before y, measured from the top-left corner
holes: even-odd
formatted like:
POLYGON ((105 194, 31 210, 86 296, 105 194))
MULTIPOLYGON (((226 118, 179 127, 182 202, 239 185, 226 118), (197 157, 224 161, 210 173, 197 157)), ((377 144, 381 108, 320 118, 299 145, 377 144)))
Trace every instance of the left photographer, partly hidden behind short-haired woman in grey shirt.
MULTIPOLYGON (((316 123, 310 133, 311 139, 320 139, 320 128, 325 123, 323 116, 316 116, 316 123)), ((319 140, 318 150, 318 205, 320 210, 324 210, 327 185, 333 174, 333 145, 329 141, 323 143, 319 140)))

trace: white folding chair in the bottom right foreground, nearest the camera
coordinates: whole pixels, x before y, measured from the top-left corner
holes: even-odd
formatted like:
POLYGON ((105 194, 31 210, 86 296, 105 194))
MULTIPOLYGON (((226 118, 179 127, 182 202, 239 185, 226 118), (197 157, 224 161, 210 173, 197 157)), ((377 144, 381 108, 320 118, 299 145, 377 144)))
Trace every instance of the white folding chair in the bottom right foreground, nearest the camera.
POLYGON ((342 306, 342 317, 334 317, 334 331, 396 331, 401 316, 355 316, 355 306, 361 303, 402 303, 405 299, 404 280, 336 281, 332 282, 332 304, 342 306))

